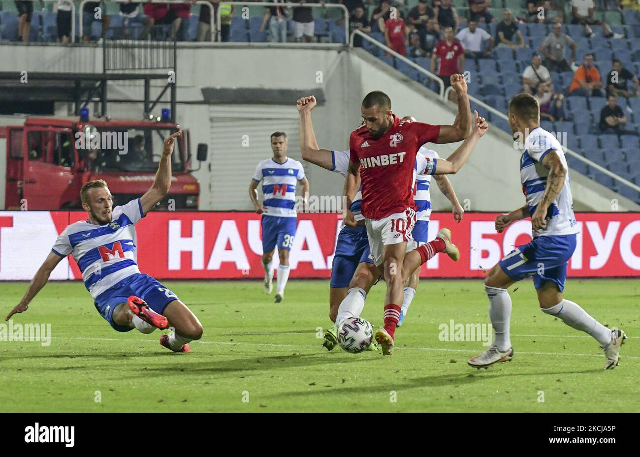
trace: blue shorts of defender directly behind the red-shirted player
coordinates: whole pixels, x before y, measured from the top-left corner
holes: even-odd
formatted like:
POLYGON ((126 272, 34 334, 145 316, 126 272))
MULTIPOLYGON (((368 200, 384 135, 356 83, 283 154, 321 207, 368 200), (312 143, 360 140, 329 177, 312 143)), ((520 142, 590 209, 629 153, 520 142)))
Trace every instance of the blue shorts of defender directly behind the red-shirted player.
POLYGON ((369 258, 370 254, 367 228, 365 226, 343 227, 335 244, 330 287, 348 287, 360 262, 373 263, 369 258))

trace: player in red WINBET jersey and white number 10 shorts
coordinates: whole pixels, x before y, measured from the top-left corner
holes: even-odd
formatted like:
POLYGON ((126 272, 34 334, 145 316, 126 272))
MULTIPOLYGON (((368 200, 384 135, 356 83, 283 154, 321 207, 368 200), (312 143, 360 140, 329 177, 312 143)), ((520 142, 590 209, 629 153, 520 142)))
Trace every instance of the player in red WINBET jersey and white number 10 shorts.
MULTIPOLYGON (((452 75, 451 85, 458 94, 458 118, 454 125, 429 125, 401 121, 391 111, 391 100, 380 91, 362 101, 364 126, 349 139, 349 173, 362 182, 362 214, 369 238, 371 256, 385 277, 385 327, 376 331, 383 353, 393 352, 394 334, 403 298, 403 261, 412 249, 415 223, 413 210, 413 167, 425 143, 454 143, 465 139, 471 124, 467 84, 463 75, 452 75), (411 244, 408 246, 408 242, 411 244)), ((431 162, 429 174, 435 174, 431 162)), ((444 238, 447 238, 446 236, 444 238)), ((439 238, 438 252, 452 247, 451 240, 439 238)), ((424 247, 424 246, 423 246, 424 247)), ((421 248, 419 248, 421 249, 421 248)))

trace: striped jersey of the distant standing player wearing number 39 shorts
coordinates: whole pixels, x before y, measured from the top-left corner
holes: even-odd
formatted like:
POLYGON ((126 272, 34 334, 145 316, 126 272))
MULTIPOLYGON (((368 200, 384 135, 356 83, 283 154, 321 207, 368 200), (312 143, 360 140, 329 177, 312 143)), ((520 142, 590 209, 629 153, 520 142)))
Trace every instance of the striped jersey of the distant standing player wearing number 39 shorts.
POLYGON ((264 215, 296 217, 296 184, 305 178, 305 170, 298 160, 289 159, 278 164, 273 157, 262 160, 255 168, 253 179, 262 181, 262 194, 267 211, 264 215))

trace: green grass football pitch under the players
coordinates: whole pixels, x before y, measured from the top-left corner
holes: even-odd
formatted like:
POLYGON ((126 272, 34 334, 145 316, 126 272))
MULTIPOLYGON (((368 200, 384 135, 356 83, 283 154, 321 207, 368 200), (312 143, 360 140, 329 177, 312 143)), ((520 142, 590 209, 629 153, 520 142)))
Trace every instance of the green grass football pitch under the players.
MULTIPOLYGON (((51 323, 51 345, 0 341, 2 412, 637 412, 640 284, 570 279, 566 297, 629 338, 604 371, 598 343, 538 308, 531 281, 513 298, 513 361, 474 369, 481 341, 441 341, 440 324, 488 323, 476 281, 421 281, 396 352, 326 352, 328 281, 292 279, 273 303, 256 281, 165 281, 196 313, 191 353, 158 344, 160 331, 118 333, 83 284, 49 283, 15 323, 51 323), (100 400, 100 401, 97 401, 100 400)), ((3 316, 26 283, 2 283, 3 316)), ((380 324, 384 286, 362 316, 380 324)), ((2 321, 4 323, 4 320, 2 321)))

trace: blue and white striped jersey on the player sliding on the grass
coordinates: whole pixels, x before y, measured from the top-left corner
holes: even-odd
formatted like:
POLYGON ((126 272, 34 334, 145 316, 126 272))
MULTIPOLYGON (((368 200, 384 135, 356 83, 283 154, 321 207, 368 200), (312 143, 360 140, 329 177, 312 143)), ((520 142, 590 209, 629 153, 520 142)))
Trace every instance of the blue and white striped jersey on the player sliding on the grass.
POLYGON ((145 215, 140 199, 111 211, 109 224, 97 226, 87 221, 65 228, 52 252, 66 257, 72 254, 80 267, 84 286, 96 298, 138 270, 136 224, 145 215))

